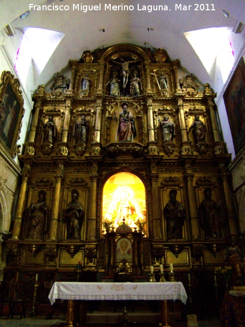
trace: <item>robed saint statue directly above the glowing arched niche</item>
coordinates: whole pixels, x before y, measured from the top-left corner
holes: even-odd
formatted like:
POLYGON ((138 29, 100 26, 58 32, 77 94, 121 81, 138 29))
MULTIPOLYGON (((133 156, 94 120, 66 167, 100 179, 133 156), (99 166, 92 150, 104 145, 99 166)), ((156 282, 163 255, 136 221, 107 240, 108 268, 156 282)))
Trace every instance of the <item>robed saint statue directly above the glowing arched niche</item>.
MULTIPOLYGON (((122 104, 123 112, 119 115, 119 125, 116 135, 119 138, 119 141, 133 141, 137 135, 134 117, 127 110, 127 103, 123 102, 122 104)), ((114 116, 115 120, 117 120, 116 113, 114 116)))

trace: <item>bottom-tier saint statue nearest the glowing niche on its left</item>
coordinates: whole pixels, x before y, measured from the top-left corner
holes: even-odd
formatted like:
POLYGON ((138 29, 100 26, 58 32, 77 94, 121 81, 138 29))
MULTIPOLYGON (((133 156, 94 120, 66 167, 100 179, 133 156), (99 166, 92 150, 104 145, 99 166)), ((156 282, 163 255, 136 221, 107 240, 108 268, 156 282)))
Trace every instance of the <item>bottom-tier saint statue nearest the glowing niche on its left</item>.
POLYGON ((65 219, 67 223, 67 239, 81 239, 81 228, 84 220, 84 209, 81 202, 78 201, 79 192, 72 191, 72 201, 65 209, 65 219))

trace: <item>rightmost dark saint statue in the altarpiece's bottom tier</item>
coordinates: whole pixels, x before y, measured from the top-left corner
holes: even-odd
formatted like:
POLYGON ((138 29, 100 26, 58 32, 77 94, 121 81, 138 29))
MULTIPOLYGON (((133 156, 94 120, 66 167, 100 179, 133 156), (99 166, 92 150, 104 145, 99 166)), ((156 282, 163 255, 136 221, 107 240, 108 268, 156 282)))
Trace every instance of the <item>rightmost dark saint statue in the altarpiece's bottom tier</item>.
POLYGON ((221 203, 211 199, 212 189, 207 187, 204 189, 204 200, 200 204, 200 216, 202 228, 205 232, 206 238, 220 237, 221 227, 219 219, 219 208, 221 203))

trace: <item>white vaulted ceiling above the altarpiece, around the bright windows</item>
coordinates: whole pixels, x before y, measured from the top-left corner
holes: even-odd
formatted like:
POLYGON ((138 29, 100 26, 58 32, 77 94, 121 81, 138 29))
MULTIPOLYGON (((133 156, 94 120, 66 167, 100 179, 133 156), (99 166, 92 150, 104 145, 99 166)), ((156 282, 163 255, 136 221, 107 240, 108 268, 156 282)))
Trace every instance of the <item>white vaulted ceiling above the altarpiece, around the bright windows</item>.
MULTIPOLYGON (((11 24, 18 33, 36 27, 62 35, 45 67, 34 74, 33 90, 30 91, 40 84, 47 85, 55 72, 64 70, 69 60, 79 60, 84 50, 130 43, 167 50, 172 60, 180 60, 183 71, 195 74, 202 84, 210 83, 219 93, 224 82, 208 74, 184 33, 210 27, 227 27, 232 31, 239 22, 245 23, 245 0, 0 0, 0 13, 0 29, 11 24), (119 10, 105 10, 105 3, 118 6, 119 10), (101 10, 73 10, 73 4, 79 4, 80 8, 81 4, 100 4, 101 10), (134 9, 122 10, 122 4, 134 9), (34 5, 66 5, 69 10, 37 10, 38 7, 33 10, 34 5), (144 9, 144 5, 148 10, 138 10, 144 9), (168 10, 150 12, 153 5, 154 8, 156 5, 167 6, 168 10), (190 10, 184 10, 184 6, 191 6, 190 10), (20 15, 28 10, 29 16, 21 20, 20 15), (228 18, 223 11, 228 13, 228 18)), ((237 34, 233 34, 234 43, 241 44, 237 34)), ((20 42, 15 44, 16 53, 20 42)), ((235 45, 234 49, 236 59, 241 55, 241 46, 235 45)))

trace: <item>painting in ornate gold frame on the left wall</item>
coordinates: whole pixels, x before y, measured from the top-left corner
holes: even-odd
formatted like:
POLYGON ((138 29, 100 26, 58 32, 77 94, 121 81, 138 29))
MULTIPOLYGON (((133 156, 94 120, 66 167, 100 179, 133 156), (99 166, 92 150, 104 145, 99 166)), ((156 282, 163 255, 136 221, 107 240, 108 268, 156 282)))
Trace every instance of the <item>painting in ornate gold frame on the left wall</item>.
POLYGON ((20 82, 10 72, 3 71, 0 82, 0 142, 12 157, 17 154, 23 115, 20 82))

